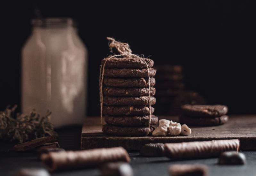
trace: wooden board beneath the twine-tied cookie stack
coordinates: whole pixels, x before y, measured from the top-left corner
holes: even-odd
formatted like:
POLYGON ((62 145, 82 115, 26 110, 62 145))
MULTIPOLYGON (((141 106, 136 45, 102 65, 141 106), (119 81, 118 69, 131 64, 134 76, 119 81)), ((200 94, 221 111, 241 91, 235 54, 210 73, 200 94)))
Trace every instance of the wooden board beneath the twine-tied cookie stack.
MULTIPOLYGON (((178 121, 174 116, 160 116, 159 119, 178 121)), ((256 115, 230 116, 221 126, 189 127, 192 129, 189 136, 109 136, 102 133, 99 117, 87 117, 82 128, 81 149, 122 146, 127 150, 139 150, 146 143, 239 139, 241 150, 256 150, 256 115)))

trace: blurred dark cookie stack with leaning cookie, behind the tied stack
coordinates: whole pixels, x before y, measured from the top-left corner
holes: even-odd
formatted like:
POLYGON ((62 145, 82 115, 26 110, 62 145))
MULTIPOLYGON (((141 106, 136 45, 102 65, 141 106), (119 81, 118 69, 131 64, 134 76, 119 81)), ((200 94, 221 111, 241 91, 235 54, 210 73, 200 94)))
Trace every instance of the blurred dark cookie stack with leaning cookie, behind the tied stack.
POLYGON ((181 65, 156 65, 156 114, 178 115, 184 104, 205 104, 197 92, 186 91, 181 65))

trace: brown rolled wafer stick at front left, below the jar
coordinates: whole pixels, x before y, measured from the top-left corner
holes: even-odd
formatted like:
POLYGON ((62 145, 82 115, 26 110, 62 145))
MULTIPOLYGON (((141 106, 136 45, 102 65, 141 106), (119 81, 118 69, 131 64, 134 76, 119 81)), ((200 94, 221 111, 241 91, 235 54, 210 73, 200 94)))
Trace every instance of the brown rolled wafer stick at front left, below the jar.
POLYGON ((43 163, 48 170, 67 170, 96 166, 105 162, 125 161, 130 158, 122 147, 90 149, 79 151, 50 152, 42 156, 43 163))

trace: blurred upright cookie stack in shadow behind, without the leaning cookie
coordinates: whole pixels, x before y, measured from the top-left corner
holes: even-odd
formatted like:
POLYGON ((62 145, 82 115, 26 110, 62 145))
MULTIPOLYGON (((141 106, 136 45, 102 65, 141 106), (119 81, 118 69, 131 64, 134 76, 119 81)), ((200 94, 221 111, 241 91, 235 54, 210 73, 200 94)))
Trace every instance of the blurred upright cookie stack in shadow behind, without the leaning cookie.
POLYGON ((157 69, 157 114, 172 114, 174 99, 184 90, 184 75, 181 65, 156 65, 157 69))

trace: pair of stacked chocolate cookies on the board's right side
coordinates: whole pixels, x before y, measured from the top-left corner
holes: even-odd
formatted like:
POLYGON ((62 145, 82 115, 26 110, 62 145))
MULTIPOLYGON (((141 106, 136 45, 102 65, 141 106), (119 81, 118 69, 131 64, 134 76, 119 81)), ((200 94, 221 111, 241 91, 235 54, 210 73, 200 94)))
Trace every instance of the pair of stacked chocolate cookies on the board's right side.
POLYGON ((217 126, 228 121, 227 106, 224 105, 190 105, 181 107, 179 122, 191 126, 217 126))

